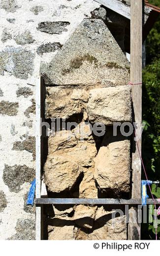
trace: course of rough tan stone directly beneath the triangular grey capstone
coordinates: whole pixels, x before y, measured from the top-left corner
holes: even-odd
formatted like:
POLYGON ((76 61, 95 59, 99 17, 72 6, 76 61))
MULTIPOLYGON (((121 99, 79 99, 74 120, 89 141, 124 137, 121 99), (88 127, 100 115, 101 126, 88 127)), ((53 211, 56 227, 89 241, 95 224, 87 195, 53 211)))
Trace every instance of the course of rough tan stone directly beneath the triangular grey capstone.
POLYGON ((130 90, 130 86, 97 88, 90 91, 64 89, 61 86, 48 87, 45 117, 68 119, 74 115, 88 113, 87 119, 94 123, 112 125, 113 122, 130 122, 130 90))

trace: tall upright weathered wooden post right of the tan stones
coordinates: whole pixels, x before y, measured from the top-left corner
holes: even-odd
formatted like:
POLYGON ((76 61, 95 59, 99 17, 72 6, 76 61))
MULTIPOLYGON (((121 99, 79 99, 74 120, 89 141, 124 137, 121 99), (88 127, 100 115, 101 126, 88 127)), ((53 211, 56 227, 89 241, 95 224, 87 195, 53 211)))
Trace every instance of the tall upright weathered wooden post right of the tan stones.
MULTIPOLYGON (((131 85, 133 122, 137 123, 137 127, 140 129, 142 123, 142 0, 130 0, 130 15, 130 82, 133 84, 131 85)), ((137 143, 141 154, 141 138, 137 143)), ((132 198, 141 198, 141 160, 138 147, 133 140, 132 198)), ((137 214, 137 208, 130 208, 129 240, 140 239, 140 224, 138 224, 137 214)))

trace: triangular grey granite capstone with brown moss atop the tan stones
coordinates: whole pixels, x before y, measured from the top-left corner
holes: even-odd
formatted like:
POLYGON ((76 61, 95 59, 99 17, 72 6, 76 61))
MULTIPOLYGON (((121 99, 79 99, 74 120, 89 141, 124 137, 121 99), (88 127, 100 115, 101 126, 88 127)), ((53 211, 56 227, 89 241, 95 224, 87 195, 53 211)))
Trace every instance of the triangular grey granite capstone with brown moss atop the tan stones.
POLYGON ((46 84, 124 85, 129 63, 102 20, 84 19, 50 64, 41 65, 46 84))

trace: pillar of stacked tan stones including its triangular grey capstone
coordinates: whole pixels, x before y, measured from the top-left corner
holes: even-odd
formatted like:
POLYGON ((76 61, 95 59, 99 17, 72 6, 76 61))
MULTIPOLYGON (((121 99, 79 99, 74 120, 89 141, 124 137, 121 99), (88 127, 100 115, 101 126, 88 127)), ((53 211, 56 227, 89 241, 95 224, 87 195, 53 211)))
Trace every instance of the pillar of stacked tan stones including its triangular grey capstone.
MULTIPOLYGON (((131 121, 129 63, 108 26, 97 17, 84 19, 40 71, 47 90, 45 117, 56 125, 44 166, 48 196, 128 198, 130 139, 120 131, 113 136, 113 123, 131 121), (97 124, 103 124, 101 135, 97 124)), ((113 218, 114 209, 46 207, 48 239, 127 239, 127 217, 113 218)))

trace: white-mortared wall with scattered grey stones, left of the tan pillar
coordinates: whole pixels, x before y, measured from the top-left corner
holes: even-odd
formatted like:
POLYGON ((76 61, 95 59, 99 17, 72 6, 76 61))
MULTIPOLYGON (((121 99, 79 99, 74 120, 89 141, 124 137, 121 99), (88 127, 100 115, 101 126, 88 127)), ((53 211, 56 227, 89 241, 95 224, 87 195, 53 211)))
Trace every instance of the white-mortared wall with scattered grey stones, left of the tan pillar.
POLYGON ((92 0, 0 0, 0 239, 35 239, 35 84, 92 0))

